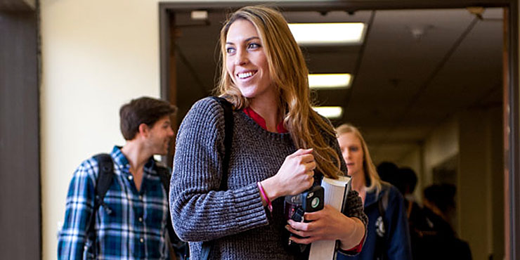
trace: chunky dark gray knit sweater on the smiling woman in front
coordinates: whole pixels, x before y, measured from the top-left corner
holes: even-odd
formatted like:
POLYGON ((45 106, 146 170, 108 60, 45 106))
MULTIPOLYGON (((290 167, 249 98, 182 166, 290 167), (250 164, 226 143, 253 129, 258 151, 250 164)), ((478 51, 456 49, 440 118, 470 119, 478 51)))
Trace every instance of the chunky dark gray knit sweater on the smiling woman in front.
MULTIPOLYGON (((257 181, 275 175, 297 149, 290 134, 266 131, 242 111, 234 111, 228 190, 219 189, 224 154, 223 109, 212 98, 197 101, 176 138, 170 209, 181 240, 190 241, 191 259, 200 259, 202 241, 214 240, 209 259, 293 259, 282 247, 287 221, 283 197, 264 209, 257 181)), ((332 139, 332 138, 331 138, 332 139)), ((335 138, 331 140, 341 157, 335 138)), ((342 169, 346 169, 342 162, 342 169)), ((344 171, 346 172, 346 171, 344 171)), ((348 196, 344 214, 367 218, 358 193, 348 196)))

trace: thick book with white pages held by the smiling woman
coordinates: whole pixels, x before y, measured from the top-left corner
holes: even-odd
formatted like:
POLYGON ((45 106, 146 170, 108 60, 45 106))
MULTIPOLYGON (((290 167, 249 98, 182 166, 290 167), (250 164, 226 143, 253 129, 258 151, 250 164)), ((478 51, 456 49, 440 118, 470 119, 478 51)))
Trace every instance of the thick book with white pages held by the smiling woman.
MULTIPOLYGON (((350 177, 340 176, 338 179, 323 177, 321 186, 325 190, 325 204, 342 212, 346 204, 346 194, 350 189, 350 177)), ((311 244, 309 260, 334 260, 339 245, 336 240, 320 240, 311 244)))

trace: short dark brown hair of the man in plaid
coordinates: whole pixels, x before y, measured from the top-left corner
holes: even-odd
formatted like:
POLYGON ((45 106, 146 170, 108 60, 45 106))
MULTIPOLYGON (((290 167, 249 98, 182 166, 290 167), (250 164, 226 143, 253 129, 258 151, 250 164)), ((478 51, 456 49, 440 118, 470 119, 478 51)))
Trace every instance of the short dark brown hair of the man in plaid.
POLYGON ((139 125, 150 127, 164 116, 174 114, 177 108, 167 101, 141 97, 132 99, 119 109, 119 126, 125 140, 132 140, 139 131, 139 125))

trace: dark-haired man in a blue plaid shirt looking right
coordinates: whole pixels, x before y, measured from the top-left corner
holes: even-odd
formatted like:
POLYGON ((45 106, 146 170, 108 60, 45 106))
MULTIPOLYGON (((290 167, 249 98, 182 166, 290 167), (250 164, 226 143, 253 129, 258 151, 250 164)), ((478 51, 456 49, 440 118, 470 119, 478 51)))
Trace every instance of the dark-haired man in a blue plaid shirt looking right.
POLYGON ((119 110, 126 140, 111 152, 114 174, 103 204, 93 213, 99 167, 91 157, 74 171, 67 193, 58 259, 168 259, 168 194, 153 155, 166 155, 174 137, 173 105, 136 98, 119 110), (93 230, 89 233, 89 223, 93 230))

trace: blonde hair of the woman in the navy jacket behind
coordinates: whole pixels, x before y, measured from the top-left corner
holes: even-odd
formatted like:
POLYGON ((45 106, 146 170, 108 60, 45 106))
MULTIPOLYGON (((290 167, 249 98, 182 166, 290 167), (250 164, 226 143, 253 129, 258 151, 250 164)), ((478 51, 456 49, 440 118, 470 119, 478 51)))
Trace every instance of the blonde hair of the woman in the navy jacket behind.
POLYGON ((363 171, 365 172, 365 179, 368 179, 370 182, 370 185, 367 186, 367 191, 375 189, 376 193, 379 193, 381 190, 381 178, 379 178, 379 174, 377 174, 377 170, 372 162, 372 157, 370 157, 370 152, 368 151, 368 145, 365 143, 365 138, 363 138, 359 129, 351 124, 342 124, 337 127, 336 132, 337 136, 352 133, 359 139, 361 150, 363 150, 363 171))

